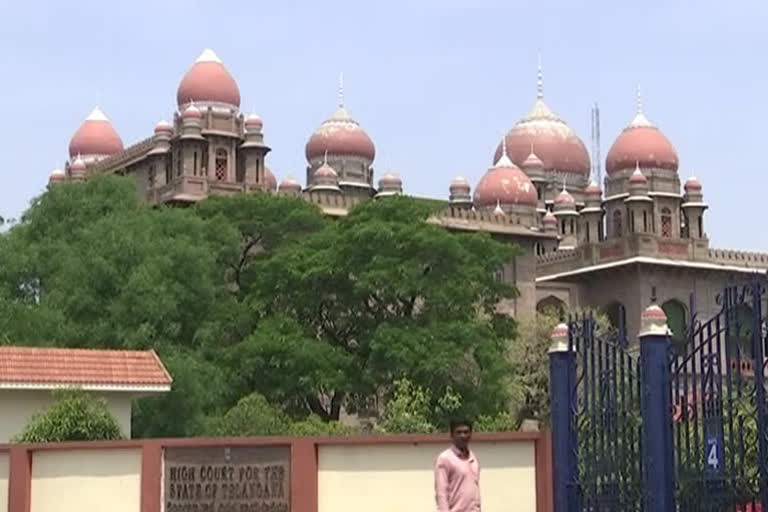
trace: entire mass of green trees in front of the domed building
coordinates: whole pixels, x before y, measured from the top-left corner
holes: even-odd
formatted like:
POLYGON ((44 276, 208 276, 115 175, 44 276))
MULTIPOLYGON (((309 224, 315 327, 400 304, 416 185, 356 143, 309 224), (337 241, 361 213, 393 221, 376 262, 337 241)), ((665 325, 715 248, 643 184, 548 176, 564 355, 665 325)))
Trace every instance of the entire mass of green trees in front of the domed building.
POLYGON ((517 250, 433 211, 388 197, 330 220, 266 194, 152 207, 123 177, 50 187, 0 233, 0 343, 155 348, 173 391, 136 404, 135 436, 237 424, 254 393, 292 429, 342 409, 375 421, 400 379, 433 424, 448 390, 495 415, 516 336, 497 309, 516 289, 496 272, 517 250))

